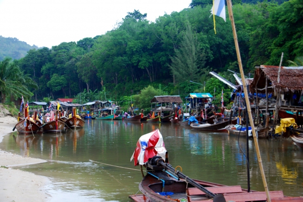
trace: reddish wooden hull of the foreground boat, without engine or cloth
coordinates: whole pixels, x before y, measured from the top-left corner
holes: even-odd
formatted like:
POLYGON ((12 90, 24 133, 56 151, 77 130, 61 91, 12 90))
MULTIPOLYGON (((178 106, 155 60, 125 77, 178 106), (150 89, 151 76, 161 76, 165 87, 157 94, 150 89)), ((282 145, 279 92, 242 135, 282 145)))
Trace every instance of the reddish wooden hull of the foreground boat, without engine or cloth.
MULTIPOLYGON (((168 179, 169 183, 165 183, 164 192, 169 193, 167 195, 161 195, 158 192, 162 192, 163 183, 147 174, 139 184, 139 190, 143 194, 130 195, 129 198, 136 202, 173 202, 175 199, 185 198, 186 201, 210 201, 207 195, 199 189, 193 187, 190 183, 186 183, 184 180, 175 180, 174 178, 168 179), (198 199, 198 200, 197 200, 198 199)), ((223 184, 217 184, 212 182, 194 180, 196 183, 202 185, 209 191, 215 194, 222 194, 226 201, 266 201, 267 196, 265 191, 250 190, 241 188, 240 185, 227 186, 223 184)), ((165 182, 168 182, 165 180, 165 182)), ((270 191, 270 197, 274 201, 303 201, 301 197, 288 197, 284 196, 283 191, 270 191)))

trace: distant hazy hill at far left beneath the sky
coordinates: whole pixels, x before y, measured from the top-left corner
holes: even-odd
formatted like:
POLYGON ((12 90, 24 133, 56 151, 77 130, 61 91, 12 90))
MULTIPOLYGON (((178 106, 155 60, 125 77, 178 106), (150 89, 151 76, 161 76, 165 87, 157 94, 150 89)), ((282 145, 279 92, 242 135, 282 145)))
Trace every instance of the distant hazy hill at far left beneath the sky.
POLYGON ((17 38, 0 36, 0 61, 5 57, 20 59, 27 54, 30 49, 39 49, 38 46, 28 45, 24 41, 19 41, 17 38))

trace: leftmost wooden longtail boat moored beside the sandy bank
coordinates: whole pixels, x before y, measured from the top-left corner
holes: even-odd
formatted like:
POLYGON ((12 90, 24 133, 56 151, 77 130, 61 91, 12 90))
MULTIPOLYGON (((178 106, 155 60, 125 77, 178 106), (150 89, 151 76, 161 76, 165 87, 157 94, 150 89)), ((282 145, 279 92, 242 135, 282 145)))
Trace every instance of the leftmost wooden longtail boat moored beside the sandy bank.
POLYGON ((17 129, 18 133, 20 134, 33 134, 40 130, 40 126, 37 125, 35 122, 29 120, 29 114, 27 111, 27 107, 24 108, 24 119, 21 120, 20 114, 18 117, 18 120, 20 120, 15 127, 13 128, 13 131, 17 129))

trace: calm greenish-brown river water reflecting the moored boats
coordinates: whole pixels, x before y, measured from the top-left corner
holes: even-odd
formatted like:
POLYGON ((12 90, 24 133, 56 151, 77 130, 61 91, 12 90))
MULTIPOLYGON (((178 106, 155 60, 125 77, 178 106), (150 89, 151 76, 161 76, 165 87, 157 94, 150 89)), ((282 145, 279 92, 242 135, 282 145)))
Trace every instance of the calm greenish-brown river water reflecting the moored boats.
MULTIPOLYGON (((86 120, 85 127, 54 134, 4 137, 0 148, 46 163, 18 169, 52 179, 51 201, 129 201, 142 179, 130 158, 140 136, 159 128, 169 161, 190 178, 247 188, 246 139, 189 126, 86 120), (240 148, 239 148, 240 146, 240 148), (96 163, 92 161, 104 163, 96 163), (105 165, 108 164, 108 165, 105 165), (112 166, 114 165, 114 166, 112 166), (115 167, 119 166, 119 167, 115 167)), ((258 140, 269 190, 303 195, 303 151, 289 139, 258 140)), ((264 191, 254 140, 249 139, 250 188, 264 191)), ((138 192, 140 193, 140 192, 138 192)))

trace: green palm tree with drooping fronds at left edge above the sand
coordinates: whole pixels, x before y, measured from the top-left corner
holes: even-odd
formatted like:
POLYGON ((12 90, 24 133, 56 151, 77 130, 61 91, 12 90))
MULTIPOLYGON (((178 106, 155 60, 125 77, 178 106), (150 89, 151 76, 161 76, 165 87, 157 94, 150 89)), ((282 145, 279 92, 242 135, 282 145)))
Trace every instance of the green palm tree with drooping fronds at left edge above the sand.
POLYGON ((0 62, 0 99, 3 103, 7 96, 16 99, 23 95, 25 99, 29 99, 33 93, 27 87, 38 87, 28 75, 23 75, 18 65, 11 60, 7 57, 0 62))

